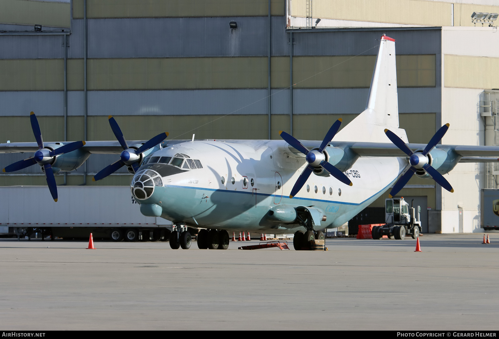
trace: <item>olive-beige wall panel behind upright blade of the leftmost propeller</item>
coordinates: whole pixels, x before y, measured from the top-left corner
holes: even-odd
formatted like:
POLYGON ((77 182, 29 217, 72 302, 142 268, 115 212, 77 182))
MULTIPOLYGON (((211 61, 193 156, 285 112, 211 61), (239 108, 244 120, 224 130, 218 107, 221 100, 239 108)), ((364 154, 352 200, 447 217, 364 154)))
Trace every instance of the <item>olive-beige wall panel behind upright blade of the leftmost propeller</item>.
MULTIPOLYGON (((64 140, 64 117, 37 116, 36 118, 44 141, 64 140)), ((29 115, 0 116, 0 143, 7 140, 10 140, 10 142, 36 142, 29 115)))

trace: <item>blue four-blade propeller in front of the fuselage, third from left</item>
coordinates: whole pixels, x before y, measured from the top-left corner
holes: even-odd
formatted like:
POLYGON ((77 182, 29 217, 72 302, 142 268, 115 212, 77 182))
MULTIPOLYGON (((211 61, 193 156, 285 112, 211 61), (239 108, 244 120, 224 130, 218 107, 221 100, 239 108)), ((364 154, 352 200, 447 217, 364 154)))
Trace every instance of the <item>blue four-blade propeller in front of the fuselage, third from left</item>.
POLYGON ((305 159, 308 162, 307 167, 303 170, 303 172, 300 174, 298 177, 298 180, 296 180, 296 183, 293 186, 293 189, 291 190, 291 194, 289 195, 289 198, 293 198, 296 193, 299 192, 299 190, 303 187, 305 182, 307 181, 308 177, 310 174, 313 172, 314 169, 320 169, 324 168, 326 171, 331 173, 333 177, 341 181, 342 183, 352 186, 352 182, 348 177, 343 174, 339 169, 331 165, 326 161, 326 156, 324 155, 324 148, 326 148, 327 144, 331 142, 333 139, 334 135, 336 132, 338 132, 338 129, 340 128, 341 125, 341 119, 336 120, 331 128, 329 128, 329 131, 326 133, 326 136, 324 137, 324 140, 322 140, 322 143, 320 144, 318 149, 313 149, 313 150, 308 150, 305 146, 301 144, 296 138, 293 136, 289 135, 286 132, 279 131, 279 135, 281 138, 284 139, 291 147, 296 148, 299 150, 301 153, 305 154, 305 159))

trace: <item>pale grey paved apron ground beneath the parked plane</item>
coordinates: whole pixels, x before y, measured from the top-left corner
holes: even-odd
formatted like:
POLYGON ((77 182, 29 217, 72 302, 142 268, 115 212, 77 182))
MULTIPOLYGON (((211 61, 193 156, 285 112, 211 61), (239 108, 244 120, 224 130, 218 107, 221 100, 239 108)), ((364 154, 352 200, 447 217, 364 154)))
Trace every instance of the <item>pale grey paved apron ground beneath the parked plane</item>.
MULTIPOLYGON (((328 251, 0 239, 0 330, 497 330, 499 234, 328 251)), ((289 241, 292 248, 292 241, 289 241)))

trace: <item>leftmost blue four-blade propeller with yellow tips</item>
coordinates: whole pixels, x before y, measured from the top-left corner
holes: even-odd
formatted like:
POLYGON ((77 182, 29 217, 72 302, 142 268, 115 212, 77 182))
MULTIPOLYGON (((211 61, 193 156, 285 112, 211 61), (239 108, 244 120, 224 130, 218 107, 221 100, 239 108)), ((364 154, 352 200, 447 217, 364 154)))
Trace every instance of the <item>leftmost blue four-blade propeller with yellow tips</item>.
POLYGON ((50 194, 52 195, 54 201, 57 202, 57 184, 55 183, 54 172, 52 171, 52 164, 55 161, 55 156, 77 150, 85 144, 85 141, 71 142, 54 150, 45 148, 43 146, 40 125, 38 124, 36 115, 31 112, 29 115, 29 119, 31 120, 31 129, 33 130, 34 138, 36 139, 36 143, 38 144, 38 150, 31 158, 17 161, 13 164, 8 165, 3 169, 3 172, 5 173, 18 171, 34 164, 39 164, 41 167, 43 167, 43 171, 45 172, 45 178, 47 179, 47 185, 48 189, 50 190, 50 194))

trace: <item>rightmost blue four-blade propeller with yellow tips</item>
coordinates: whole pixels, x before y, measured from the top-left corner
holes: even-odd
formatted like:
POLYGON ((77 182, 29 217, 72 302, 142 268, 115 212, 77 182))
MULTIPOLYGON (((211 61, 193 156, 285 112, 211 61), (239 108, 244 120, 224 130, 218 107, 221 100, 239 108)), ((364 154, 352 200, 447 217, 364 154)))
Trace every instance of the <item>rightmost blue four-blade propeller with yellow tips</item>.
POLYGON ((424 169, 432 178, 435 180, 440 186, 445 188, 449 192, 454 192, 451 184, 444 178, 442 174, 440 174, 435 168, 430 166, 428 153, 435 147, 439 141, 444 137, 445 133, 449 129, 449 124, 446 123, 435 133, 435 135, 431 138, 428 145, 426 145, 425 149, 421 152, 413 152, 406 143, 399 138, 395 133, 393 133, 389 129, 385 129, 385 134, 388 138, 400 148, 405 154, 409 156, 409 164, 404 169, 404 174, 400 177, 400 179, 395 183, 392 190, 390 191, 389 197, 394 197, 399 191, 409 182, 409 179, 412 178, 414 173, 417 170, 424 169))

